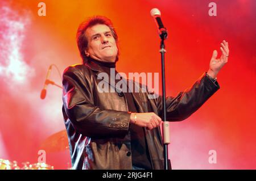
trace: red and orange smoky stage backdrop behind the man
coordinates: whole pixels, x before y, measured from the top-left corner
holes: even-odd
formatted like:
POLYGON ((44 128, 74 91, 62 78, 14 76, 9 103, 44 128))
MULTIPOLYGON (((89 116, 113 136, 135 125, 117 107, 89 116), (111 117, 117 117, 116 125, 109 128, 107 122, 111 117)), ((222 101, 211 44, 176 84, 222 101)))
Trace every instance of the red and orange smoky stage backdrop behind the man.
MULTIPOLYGON (((256 169, 256 1, 40 1, 0 2, 0 158, 38 162, 47 137, 65 129, 61 89, 49 85, 50 64, 63 70, 81 63, 76 31, 88 16, 112 19, 119 36, 118 71, 159 72, 159 37, 150 10, 162 12, 166 41, 167 95, 190 87, 209 68, 214 49, 229 42, 229 62, 218 74, 220 90, 191 117, 171 123, 172 169, 256 169), (210 2, 217 16, 209 16, 210 2), (209 163, 209 150, 217 163, 209 163)), ((55 68, 51 80, 61 85, 55 68)), ((160 78, 160 77, 159 77, 160 78)), ((55 169, 71 167, 68 150, 47 152, 55 169)))

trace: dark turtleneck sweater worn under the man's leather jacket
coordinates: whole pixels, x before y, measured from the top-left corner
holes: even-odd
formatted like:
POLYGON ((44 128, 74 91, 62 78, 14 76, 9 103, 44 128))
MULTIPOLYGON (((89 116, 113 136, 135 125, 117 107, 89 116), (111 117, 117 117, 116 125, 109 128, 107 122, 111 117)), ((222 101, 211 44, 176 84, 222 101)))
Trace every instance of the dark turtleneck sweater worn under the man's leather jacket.
MULTIPOLYGON (((104 61, 94 60, 92 58, 90 58, 89 61, 93 61, 94 63, 100 65, 101 68, 106 73, 109 74, 109 76, 110 76, 110 69, 111 68, 115 69, 115 62, 104 62, 104 61)), ((115 71, 115 74, 117 73, 118 72, 115 71)), ((134 104, 134 99, 131 92, 127 91, 127 92, 123 92, 123 94, 125 95, 125 98, 127 100, 127 106, 129 111, 138 112, 134 104)), ((150 156, 148 153, 147 142, 146 142, 143 128, 138 127, 137 125, 131 124, 130 134, 131 134, 131 159, 132 159, 133 166, 150 170, 151 169, 150 156)))

